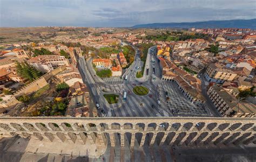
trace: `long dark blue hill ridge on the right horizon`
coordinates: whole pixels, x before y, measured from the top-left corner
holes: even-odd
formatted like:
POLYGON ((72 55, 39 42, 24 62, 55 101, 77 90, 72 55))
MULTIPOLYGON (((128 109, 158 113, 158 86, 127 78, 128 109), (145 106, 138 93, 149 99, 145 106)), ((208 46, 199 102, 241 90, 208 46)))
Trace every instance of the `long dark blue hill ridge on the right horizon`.
POLYGON ((256 29, 256 19, 250 20, 212 20, 207 22, 193 23, 153 23, 140 24, 132 26, 132 28, 250 28, 256 29))

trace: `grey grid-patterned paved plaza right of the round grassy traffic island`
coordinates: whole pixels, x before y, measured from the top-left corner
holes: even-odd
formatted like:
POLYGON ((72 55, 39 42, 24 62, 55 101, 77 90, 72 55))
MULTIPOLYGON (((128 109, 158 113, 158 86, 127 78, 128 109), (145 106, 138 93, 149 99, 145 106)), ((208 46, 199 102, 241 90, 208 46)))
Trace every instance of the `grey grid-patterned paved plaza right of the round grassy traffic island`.
POLYGON ((178 87, 171 81, 163 81, 159 84, 161 101, 172 114, 177 115, 203 115, 206 116, 204 108, 191 103, 181 93, 178 87))

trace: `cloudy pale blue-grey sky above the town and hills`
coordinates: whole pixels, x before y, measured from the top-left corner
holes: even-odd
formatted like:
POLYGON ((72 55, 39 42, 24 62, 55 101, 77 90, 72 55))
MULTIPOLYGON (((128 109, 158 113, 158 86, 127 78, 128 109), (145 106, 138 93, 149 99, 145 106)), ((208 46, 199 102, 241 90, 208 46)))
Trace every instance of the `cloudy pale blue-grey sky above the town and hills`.
POLYGON ((256 18, 256 0, 0 0, 0 26, 130 27, 256 18))

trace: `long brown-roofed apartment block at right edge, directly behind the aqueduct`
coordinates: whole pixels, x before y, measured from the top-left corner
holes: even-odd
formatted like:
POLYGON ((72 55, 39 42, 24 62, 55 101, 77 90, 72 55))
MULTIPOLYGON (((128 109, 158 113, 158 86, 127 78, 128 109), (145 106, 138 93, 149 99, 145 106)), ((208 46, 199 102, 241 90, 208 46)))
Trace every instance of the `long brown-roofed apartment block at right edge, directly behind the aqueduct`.
POLYGON ((224 117, 254 117, 255 105, 251 102, 239 101, 219 85, 213 85, 207 91, 215 108, 224 117))

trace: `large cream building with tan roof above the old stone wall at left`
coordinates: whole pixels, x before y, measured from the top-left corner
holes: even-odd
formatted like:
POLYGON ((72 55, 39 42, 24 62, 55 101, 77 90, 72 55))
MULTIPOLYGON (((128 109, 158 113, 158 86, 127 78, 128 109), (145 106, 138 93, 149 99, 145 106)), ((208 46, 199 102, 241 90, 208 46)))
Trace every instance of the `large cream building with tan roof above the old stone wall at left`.
POLYGON ((69 66, 69 60, 60 55, 39 55, 29 59, 28 62, 44 73, 63 65, 69 66))

